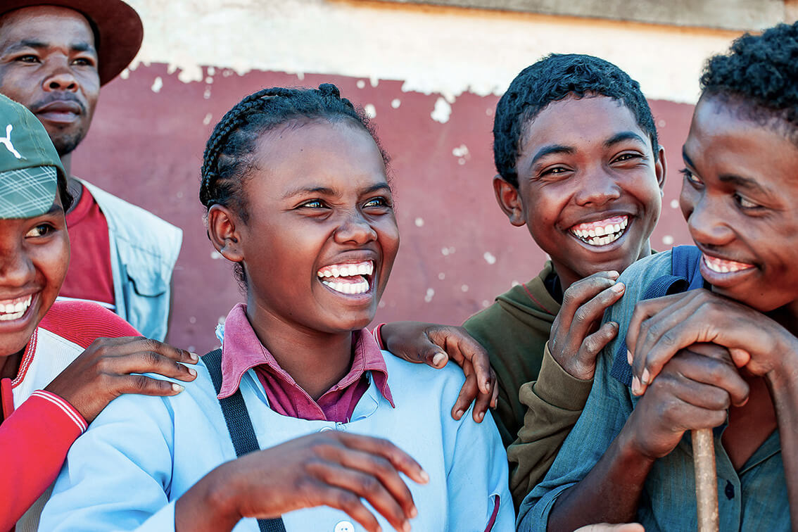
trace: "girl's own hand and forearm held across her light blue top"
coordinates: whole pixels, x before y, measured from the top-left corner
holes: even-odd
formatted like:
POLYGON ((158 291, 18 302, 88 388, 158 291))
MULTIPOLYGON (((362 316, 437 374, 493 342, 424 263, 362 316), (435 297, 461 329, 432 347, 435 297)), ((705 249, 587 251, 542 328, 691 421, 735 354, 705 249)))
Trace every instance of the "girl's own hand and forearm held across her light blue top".
POLYGON ((231 530, 245 517, 330 506, 377 532, 365 499, 393 528, 407 532, 417 510, 400 472, 429 482, 421 466, 386 439, 335 431, 302 436, 211 471, 177 501, 176 530, 231 530))

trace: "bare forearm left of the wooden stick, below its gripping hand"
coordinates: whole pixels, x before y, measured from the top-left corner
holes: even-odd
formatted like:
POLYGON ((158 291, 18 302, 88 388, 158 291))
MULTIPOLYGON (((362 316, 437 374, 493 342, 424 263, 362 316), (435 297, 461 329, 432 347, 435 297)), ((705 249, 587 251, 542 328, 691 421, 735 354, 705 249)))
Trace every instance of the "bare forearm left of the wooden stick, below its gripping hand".
POLYGON ((548 518, 548 530, 575 530, 596 522, 632 522, 654 459, 630 446, 622 430, 590 473, 563 492, 548 518))

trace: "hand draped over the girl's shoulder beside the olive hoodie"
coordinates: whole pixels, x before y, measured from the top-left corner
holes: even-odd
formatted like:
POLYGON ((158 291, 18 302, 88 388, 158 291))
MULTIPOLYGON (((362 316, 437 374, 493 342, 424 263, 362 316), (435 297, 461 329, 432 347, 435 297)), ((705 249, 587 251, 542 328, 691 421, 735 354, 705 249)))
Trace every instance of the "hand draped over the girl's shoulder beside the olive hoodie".
POLYGON ((393 321, 380 329, 385 349, 405 361, 443 368, 452 360, 463 368, 465 383, 460 388, 452 417, 459 420, 474 402, 472 416, 480 423, 489 408, 496 408, 496 374, 488 352, 463 327, 421 321, 393 321))

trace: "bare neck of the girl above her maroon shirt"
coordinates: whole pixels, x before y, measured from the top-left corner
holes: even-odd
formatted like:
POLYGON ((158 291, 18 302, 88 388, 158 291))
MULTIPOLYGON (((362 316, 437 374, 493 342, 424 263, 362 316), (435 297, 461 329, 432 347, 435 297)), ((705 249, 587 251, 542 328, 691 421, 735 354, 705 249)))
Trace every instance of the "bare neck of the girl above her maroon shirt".
POLYGON ((352 366, 352 332, 322 333, 275 318, 252 301, 247 319, 259 341, 307 394, 318 400, 352 366))

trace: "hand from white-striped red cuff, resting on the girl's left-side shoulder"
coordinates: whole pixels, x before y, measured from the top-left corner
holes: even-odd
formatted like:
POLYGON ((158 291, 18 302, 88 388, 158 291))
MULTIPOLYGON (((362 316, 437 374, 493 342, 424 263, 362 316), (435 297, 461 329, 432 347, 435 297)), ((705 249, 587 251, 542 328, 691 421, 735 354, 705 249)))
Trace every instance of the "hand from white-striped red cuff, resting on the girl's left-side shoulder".
POLYGON ((199 357, 194 353, 149 338, 97 338, 45 390, 67 400, 87 423, 91 423, 103 408, 123 393, 145 396, 180 393, 183 390, 180 384, 140 373, 194 380, 196 371, 184 364, 197 361, 199 357))

